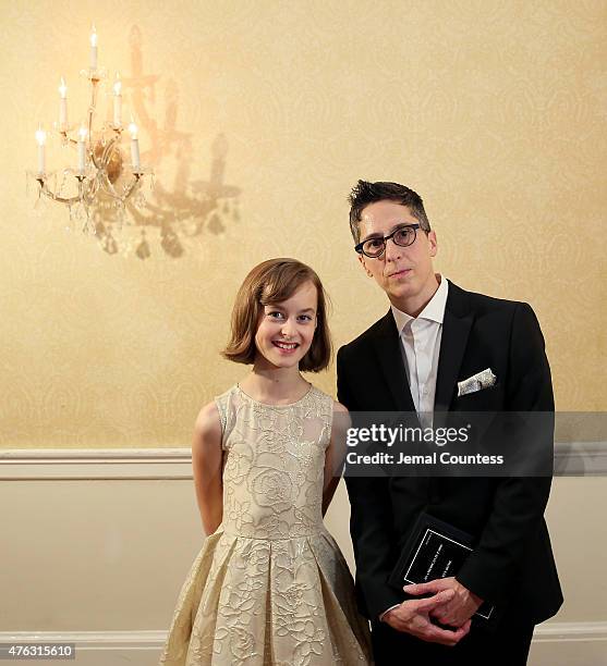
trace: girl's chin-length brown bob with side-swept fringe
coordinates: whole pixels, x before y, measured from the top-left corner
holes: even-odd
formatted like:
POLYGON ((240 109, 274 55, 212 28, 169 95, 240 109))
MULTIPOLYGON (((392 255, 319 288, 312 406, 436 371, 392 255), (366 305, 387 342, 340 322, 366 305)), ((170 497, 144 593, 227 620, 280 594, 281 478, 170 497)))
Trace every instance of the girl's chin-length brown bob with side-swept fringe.
POLYGON ((300 370, 319 372, 331 358, 331 338, 327 324, 327 301, 323 283, 314 270, 296 259, 268 259, 256 266, 244 279, 232 309, 230 342, 221 353, 236 363, 251 365, 257 347, 255 334, 264 306, 278 305, 306 282, 316 287, 316 330, 307 354, 300 361, 300 370))

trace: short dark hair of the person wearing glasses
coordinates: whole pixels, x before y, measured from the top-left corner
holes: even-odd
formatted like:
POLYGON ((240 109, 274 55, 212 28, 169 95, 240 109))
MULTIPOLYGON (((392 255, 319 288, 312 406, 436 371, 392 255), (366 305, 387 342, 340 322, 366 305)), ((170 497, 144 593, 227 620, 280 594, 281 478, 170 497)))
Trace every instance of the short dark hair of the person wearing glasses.
POLYGON ((424 210, 422 197, 404 185, 399 183, 369 183, 359 181, 352 188, 348 202, 350 203, 350 231, 354 243, 361 242, 361 215, 363 209, 375 201, 398 201, 406 206, 411 214, 420 222, 420 226, 428 233, 430 223, 424 210))

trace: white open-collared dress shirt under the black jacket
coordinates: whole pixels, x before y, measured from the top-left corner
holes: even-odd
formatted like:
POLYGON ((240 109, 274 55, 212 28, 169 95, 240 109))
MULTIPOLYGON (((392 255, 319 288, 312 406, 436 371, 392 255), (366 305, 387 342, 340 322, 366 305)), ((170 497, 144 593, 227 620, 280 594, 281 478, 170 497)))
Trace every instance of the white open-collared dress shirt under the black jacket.
MULTIPOLYGON (((397 329, 400 332, 402 360, 411 397, 423 428, 432 425, 438 355, 442 340, 442 320, 449 292, 447 280, 440 275, 437 275, 437 279, 439 280, 438 289, 417 317, 411 317, 391 306, 397 329)), ((398 605, 400 604, 386 608, 379 616, 379 620, 383 620, 386 613, 398 605)))

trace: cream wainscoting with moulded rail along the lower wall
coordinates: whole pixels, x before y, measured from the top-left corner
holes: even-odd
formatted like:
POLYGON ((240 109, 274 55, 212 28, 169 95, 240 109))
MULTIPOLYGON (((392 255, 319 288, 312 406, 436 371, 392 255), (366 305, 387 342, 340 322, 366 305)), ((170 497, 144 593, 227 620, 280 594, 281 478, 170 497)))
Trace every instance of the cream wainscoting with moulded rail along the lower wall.
MULTIPOLYGON (((607 447, 591 466, 587 452, 576 461, 571 445, 557 449, 569 473, 595 477, 555 481, 548 521, 567 601, 536 629, 532 666, 607 666, 604 527, 596 535, 607 447)), ((204 541, 190 449, 11 449, 0 480, 0 643, 75 643, 82 666, 156 664, 204 541)), ((348 516, 340 484, 327 527, 352 566, 348 516)))

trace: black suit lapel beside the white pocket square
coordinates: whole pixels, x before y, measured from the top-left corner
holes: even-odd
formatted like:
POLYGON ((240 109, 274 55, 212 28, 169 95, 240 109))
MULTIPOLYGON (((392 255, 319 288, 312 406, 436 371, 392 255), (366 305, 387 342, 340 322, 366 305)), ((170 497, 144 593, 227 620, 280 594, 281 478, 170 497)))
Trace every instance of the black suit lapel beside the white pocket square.
POLYGON ((451 406, 473 319, 465 292, 450 282, 438 357, 435 411, 447 411, 451 406))

